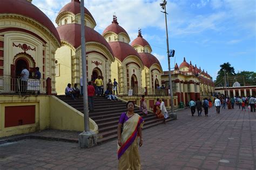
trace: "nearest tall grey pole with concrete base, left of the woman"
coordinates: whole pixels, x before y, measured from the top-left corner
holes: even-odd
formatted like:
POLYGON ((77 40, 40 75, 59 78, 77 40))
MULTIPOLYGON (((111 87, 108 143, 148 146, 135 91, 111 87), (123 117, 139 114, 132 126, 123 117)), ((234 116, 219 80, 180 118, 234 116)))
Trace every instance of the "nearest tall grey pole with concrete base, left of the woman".
POLYGON ((97 134, 90 131, 89 127, 89 110, 87 96, 87 75, 86 75, 86 56, 85 56, 85 29, 84 29, 84 0, 80 1, 81 12, 81 57, 82 57, 82 74, 83 74, 83 104, 84 104, 84 132, 79 134, 80 147, 92 147, 97 143, 97 134))

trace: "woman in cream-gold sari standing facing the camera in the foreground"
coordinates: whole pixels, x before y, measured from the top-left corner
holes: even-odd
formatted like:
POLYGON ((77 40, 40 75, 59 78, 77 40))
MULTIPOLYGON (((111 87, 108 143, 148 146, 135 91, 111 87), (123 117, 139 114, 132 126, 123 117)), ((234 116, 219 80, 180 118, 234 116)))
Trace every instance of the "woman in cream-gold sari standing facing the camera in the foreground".
POLYGON ((139 147, 143 145, 143 118, 134 113, 133 101, 126 104, 127 112, 122 113, 117 127, 118 169, 142 169, 140 165, 139 147), (122 129, 123 126, 123 129, 122 129))

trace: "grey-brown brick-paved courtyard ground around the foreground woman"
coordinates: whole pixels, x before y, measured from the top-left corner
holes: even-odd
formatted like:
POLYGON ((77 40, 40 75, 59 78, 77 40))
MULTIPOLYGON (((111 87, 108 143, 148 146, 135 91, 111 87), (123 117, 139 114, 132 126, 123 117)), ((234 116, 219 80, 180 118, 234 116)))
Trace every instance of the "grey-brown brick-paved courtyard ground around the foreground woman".
MULTIPOLYGON (((256 113, 221 110, 143 131, 143 169, 256 169, 256 113)), ((89 149, 63 141, 25 139, 0 145, 0 169, 117 169, 117 141, 89 149)))

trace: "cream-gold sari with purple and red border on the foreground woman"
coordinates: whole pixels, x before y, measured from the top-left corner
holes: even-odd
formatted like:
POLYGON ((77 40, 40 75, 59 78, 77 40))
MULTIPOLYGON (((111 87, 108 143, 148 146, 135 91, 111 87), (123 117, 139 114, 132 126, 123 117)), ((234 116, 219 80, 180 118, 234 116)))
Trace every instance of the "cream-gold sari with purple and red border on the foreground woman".
POLYGON ((134 114, 123 124, 122 146, 118 145, 118 169, 142 169, 138 149, 138 128, 143 126, 143 119, 134 114))

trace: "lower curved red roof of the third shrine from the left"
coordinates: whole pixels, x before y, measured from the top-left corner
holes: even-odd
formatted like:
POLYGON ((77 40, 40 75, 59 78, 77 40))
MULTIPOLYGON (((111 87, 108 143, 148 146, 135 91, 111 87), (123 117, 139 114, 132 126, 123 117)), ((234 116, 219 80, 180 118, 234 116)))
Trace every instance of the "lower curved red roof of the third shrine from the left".
POLYGON ((136 50, 133 49, 133 47, 127 43, 123 42, 109 42, 109 45, 114 53, 114 57, 117 57, 121 62, 127 57, 127 56, 137 56, 139 57, 139 54, 136 50))

